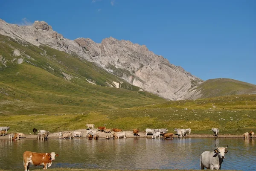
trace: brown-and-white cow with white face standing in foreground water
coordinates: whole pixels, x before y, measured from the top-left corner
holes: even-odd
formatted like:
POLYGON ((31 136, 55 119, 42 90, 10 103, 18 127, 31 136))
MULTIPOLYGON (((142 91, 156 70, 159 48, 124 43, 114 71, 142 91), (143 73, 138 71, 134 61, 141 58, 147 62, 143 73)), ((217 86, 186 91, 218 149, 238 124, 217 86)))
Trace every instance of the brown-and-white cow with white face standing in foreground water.
POLYGON ((25 171, 29 171, 29 165, 43 165, 44 169, 47 169, 52 165, 52 162, 55 160, 58 154, 55 152, 51 153, 35 153, 31 151, 25 151, 23 153, 23 165, 25 171))

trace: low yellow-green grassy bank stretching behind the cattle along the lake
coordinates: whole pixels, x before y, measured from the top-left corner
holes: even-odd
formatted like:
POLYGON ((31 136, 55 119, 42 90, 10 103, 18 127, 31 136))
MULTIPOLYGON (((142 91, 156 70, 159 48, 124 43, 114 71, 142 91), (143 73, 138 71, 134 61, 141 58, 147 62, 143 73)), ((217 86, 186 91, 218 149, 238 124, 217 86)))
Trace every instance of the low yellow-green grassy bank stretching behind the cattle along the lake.
POLYGON ((191 128, 192 133, 212 134, 211 128, 219 128, 220 134, 242 134, 256 131, 256 95, 223 96, 212 99, 169 101, 125 109, 81 112, 79 107, 68 111, 41 106, 43 114, 9 114, 1 119, 1 125, 9 125, 10 132, 31 133, 33 128, 50 132, 95 127, 132 130, 139 128, 191 128), (73 111, 72 111, 73 110, 73 111), (77 113, 76 113, 77 112, 77 113))

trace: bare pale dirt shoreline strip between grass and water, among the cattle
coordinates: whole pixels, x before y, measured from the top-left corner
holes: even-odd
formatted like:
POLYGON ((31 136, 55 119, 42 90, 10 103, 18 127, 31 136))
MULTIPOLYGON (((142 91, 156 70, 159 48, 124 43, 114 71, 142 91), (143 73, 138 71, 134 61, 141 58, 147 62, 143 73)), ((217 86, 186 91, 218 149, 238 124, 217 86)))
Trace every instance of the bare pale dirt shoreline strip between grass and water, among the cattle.
MULTIPOLYGON (((81 136, 77 136, 77 138, 86 138, 86 129, 81 129, 81 130, 76 130, 76 131, 81 131, 83 134, 81 134, 81 136)), ((67 132, 73 132, 73 130, 71 131, 63 131, 63 133, 67 133, 67 132)), ((127 133, 127 138, 152 138, 151 135, 145 136, 145 132, 139 132, 139 136, 136 137, 133 135, 132 131, 123 131, 127 133)), ((104 133, 104 132, 98 132, 99 135, 99 139, 105 139, 105 136, 109 136, 111 135, 111 139, 113 137, 113 135, 111 133, 104 133)), ((24 136, 24 138, 26 139, 37 139, 37 134, 26 134, 24 136)), ((50 133, 48 135, 48 138, 53 138, 53 139, 59 139, 59 132, 56 133, 50 133)), ((76 137, 74 137, 75 139, 76 137)), ((177 135, 174 134, 174 138, 177 138, 177 135)), ((231 135, 231 134, 221 134, 219 136, 214 136, 213 134, 190 134, 187 135, 185 137, 182 138, 244 138, 243 135, 231 135)), ((4 136, 0 136, 0 139, 9 139, 8 134, 4 134, 4 136)), ((160 139, 163 139, 162 136, 160 137, 160 139)))

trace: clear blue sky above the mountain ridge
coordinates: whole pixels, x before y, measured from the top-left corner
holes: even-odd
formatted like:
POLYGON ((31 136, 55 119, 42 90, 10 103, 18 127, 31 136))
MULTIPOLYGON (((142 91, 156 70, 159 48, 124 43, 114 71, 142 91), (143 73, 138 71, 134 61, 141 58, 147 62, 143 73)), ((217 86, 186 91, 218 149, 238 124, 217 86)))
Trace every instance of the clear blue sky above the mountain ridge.
POLYGON ((0 18, 44 20, 72 40, 129 40, 201 79, 256 84, 256 0, 0 0, 0 18))

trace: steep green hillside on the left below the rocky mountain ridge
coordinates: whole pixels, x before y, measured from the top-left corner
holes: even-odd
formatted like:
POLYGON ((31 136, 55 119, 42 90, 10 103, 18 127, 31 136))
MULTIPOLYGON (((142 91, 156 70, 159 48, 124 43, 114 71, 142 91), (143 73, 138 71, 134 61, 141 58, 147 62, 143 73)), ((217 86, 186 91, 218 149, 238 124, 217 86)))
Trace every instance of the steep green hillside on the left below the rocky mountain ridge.
POLYGON ((0 114, 76 113, 163 102, 79 57, 0 35, 0 114), (14 56, 14 49, 20 56, 14 56), (17 64, 23 59, 22 64, 17 64), (71 79, 67 79, 67 76, 71 79), (90 80, 94 84, 90 84, 90 80), (95 85, 97 84, 97 85, 95 85))

